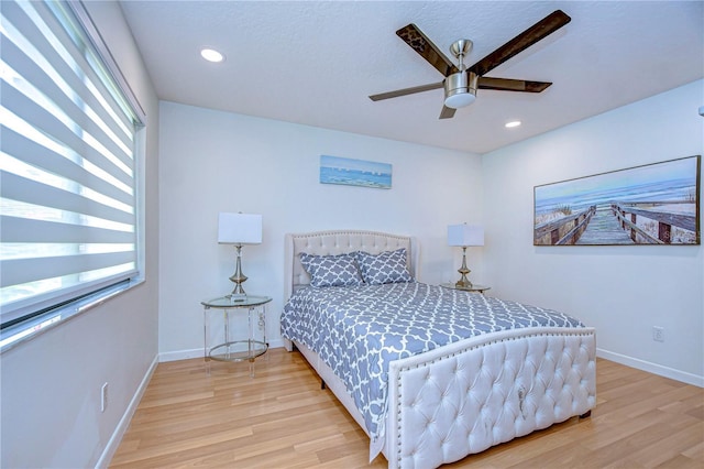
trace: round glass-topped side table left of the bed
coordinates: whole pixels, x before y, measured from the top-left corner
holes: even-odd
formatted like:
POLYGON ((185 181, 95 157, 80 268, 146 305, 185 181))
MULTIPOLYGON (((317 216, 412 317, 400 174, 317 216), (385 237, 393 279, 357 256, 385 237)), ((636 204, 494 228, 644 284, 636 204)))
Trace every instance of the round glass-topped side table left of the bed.
POLYGON ((204 359, 210 373, 210 360, 250 362, 250 377, 254 377, 254 359, 268 349, 266 341, 266 304, 270 296, 248 296, 245 299, 232 301, 230 296, 200 302, 204 306, 204 359), (217 330, 217 315, 222 315, 222 329, 217 330), (216 325, 210 323, 216 317, 216 325), (246 316, 244 318, 243 316, 246 316), (233 338, 233 330, 244 327, 246 319, 246 338, 233 338), (210 345, 215 341, 215 345, 210 345))

